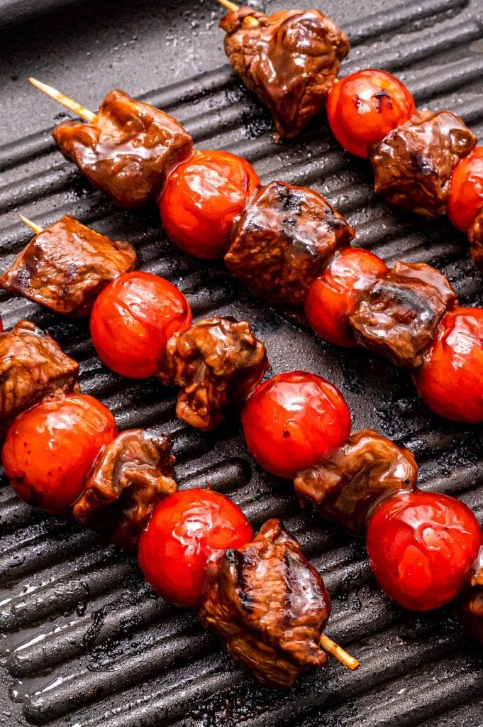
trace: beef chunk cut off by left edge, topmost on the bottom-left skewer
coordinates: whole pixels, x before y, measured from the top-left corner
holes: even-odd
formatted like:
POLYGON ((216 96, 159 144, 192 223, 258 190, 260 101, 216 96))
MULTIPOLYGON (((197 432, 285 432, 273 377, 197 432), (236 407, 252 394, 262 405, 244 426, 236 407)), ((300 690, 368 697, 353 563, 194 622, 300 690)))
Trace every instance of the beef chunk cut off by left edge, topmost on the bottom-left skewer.
POLYGON ((76 388, 79 365, 49 334, 19 321, 0 334, 0 438, 25 409, 76 388))

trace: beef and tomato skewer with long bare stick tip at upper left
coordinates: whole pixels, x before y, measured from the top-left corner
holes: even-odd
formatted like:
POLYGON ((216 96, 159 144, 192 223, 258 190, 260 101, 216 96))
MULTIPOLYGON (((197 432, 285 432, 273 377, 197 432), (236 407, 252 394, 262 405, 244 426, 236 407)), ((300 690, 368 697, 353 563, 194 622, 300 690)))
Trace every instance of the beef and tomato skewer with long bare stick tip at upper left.
MULTIPOLYGON (((68 97, 31 80, 78 111, 68 97)), ((150 180, 145 200, 158 201, 163 227, 184 252, 224 257, 253 294, 291 313, 304 310, 323 339, 360 345, 411 371, 423 401, 440 416, 483 421, 483 309, 461 308, 442 273, 405 262, 389 270, 375 254, 350 246, 354 230, 320 194, 278 181, 259 186, 244 159, 224 151, 193 152, 179 124, 181 131, 173 132, 174 119, 165 122, 165 113, 123 92, 110 92, 97 115, 84 116, 94 121, 63 121, 54 138, 113 201, 138 204, 137 191, 129 197, 129 185, 137 189, 139 177, 150 180), (152 154, 155 140, 163 140, 164 158, 170 159, 171 140, 179 137, 186 158, 176 156, 174 169, 171 162, 161 169, 152 154)), ((12 289, 8 274, 1 284, 12 289)), ((111 342, 97 337, 95 324, 109 286, 94 306, 92 334, 101 358, 112 365, 111 351, 102 353, 103 346, 112 349, 111 342)), ((106 304, 102 321, 107 313, 115 315, 114 307, 106 304)))

